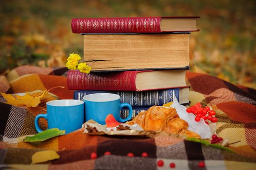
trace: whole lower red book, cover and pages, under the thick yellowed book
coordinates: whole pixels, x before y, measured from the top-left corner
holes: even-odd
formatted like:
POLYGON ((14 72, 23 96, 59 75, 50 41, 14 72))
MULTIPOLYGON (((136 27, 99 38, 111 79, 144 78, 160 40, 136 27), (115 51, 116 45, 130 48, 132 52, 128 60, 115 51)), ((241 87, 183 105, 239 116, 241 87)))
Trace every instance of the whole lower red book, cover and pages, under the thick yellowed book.
POLYGON ((70 90, 146 91, 187 87, 186 69, 102 71, 82 73, 69 70, 70 90))

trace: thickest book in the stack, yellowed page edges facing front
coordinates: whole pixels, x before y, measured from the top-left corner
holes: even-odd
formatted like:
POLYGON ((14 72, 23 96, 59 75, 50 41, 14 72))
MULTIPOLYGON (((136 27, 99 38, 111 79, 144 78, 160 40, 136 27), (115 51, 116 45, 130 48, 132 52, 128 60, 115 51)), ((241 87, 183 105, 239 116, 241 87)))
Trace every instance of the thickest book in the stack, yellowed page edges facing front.
POLYGON ((185 68, 189 34, 84 34, 92 71, 185 68))

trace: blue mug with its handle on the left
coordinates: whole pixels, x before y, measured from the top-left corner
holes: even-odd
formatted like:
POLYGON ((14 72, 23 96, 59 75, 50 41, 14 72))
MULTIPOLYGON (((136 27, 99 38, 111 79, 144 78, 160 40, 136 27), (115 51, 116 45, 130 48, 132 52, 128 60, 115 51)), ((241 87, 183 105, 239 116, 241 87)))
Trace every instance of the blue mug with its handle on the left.
POLYGON ((37 132, 42 132, 38 120, 47 120, 48 129, 58 128, 66 134, 82 127, 84 123, 84 102, 79 100, 55 100, 46 103, 47 114, 39 114, 35 119, 37 132))

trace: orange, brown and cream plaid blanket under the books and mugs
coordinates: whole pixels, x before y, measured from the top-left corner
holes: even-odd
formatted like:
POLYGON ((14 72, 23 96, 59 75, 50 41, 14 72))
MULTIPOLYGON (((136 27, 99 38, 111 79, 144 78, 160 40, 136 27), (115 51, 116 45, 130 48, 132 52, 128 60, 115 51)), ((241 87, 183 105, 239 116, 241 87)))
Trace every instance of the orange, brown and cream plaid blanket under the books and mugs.
MULTIPOLYGON (((228 139, 229 148, 236 153, 170 136, 90 136, 84 134, 83 129, 39 145, 5 142, 10 138, 36 134, 34 119, 37 114, 46 113, 47 101, 73 98, 73 90, 68 90, 66 85, 66 71, 66 68, 22 66, 6 76, 8 81, 0 82, 2 86, 10 86, 8 93, 65 86, 64 89, 51 90, 35 108, 9 105, 0 98, 0 169, 155 170, 170 169, 170 163, 175 163, 176 169, 256 169, 256 90, 189 71, 186 78, 191 86, 191 104, 201 102, 216 111, 217 134, 228 139), (3 85, 6 82, 9 85, 3 85), (60 158, 32 165, 32 155, 42 150, 54 150, 60 158), (93 152, 97 153, 96 159, 91 159, 93 152), (111 155, 104 155, 105 152, 111 155), (142 156, 144 152, 147 157, 142 156), (134 156, 128 157, 128 153, 134 156), (158 166, 159 160, 164 162, 162 167, 158 166), (205 168, 199 168, 201 161, 205 168)), ((46 120, 40 119, 39 125, 46 129, 46 120)))

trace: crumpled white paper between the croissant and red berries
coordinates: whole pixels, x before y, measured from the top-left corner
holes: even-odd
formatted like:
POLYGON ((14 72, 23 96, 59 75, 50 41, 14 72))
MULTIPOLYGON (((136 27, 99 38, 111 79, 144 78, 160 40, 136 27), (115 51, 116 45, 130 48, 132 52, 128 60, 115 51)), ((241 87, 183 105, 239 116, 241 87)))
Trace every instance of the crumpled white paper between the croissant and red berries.
POLYGON ((215 130, 211 130, 210 126, 204 123, 203 119, 200 119, 200 121, 195 121, 196 116, 192 113, 187 113, 186 107, 180 104, 176 97, 174 97, 173 103, 170 107, 174 107, 179 117, 188 123, 188 130, 196 132, 201 136, 201 139, 211 138, 212 134, 215 133, 216 126, 211 125, 212 127, 215 127, 215 130))

